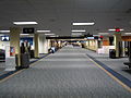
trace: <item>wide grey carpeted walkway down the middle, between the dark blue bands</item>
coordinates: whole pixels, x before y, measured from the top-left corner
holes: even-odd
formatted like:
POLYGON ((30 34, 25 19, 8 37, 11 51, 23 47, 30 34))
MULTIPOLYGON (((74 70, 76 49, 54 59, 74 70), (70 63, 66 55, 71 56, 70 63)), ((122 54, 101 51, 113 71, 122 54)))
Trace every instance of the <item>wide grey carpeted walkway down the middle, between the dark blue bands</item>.
POLYGON ((0 83, 0 98, 131 98, 86 52, 63 47, 0 83))

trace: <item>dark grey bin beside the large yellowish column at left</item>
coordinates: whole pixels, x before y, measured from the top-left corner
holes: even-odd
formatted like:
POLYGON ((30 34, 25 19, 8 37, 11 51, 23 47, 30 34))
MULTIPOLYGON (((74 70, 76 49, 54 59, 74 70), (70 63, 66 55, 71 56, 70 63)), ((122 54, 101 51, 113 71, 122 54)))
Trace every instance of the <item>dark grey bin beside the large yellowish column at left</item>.
POLYGON ((22 69, 29 68, 29 53, 22 53, 21 54, 21 68, 22 69))

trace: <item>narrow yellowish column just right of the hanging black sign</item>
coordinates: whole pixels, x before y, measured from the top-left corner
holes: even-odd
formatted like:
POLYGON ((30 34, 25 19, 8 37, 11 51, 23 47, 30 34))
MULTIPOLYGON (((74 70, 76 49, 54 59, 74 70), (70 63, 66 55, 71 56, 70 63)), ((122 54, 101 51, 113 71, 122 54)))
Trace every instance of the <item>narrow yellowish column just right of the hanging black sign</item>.
POLYGON ((35 58, 39 58, 39 36, 38 34, 35 34, 34 36, 34 42, 35 42, 35 48, 34 48, 34 54, 35 54, 35 58))

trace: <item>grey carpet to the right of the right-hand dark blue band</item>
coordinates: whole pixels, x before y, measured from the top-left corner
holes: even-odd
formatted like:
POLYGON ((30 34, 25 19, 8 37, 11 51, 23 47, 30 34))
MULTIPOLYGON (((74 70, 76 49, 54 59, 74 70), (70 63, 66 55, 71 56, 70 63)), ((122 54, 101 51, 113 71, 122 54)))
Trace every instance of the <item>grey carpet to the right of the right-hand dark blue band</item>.
POLYGON ((131 69, 123 64, 128 58, 110 59, 109 54, 98 54, 91 50, 87 50, 87 54, 131 81, 131 69))

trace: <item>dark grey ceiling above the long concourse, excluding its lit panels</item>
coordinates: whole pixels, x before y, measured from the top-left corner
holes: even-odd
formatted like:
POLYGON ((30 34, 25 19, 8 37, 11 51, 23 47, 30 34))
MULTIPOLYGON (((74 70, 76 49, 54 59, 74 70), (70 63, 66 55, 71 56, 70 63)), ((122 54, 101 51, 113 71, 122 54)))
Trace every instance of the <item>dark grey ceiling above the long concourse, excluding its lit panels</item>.
POLYGON ((32 27, 64 36, 71 29, 97 34, 121 27, 131 32, 131 0, 0 0, 0 29, 15 26, 14 21, 36 21, 32 27), (73 26, 73 22, 95 25, 73 26))

